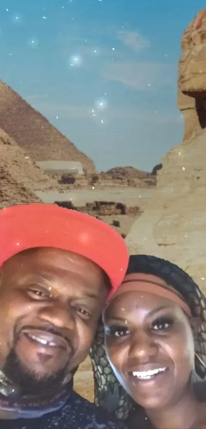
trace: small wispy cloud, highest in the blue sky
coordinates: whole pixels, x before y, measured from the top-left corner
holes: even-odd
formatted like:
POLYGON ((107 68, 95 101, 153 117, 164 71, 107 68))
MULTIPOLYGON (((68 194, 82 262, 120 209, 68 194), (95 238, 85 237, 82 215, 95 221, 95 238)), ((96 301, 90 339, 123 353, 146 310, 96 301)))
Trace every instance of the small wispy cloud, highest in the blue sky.
POLYGON ((135 52, 151 47, 150 41, 138 33, 138 31, 119 30, 117 39, 121 40, 125 46, 135 52))

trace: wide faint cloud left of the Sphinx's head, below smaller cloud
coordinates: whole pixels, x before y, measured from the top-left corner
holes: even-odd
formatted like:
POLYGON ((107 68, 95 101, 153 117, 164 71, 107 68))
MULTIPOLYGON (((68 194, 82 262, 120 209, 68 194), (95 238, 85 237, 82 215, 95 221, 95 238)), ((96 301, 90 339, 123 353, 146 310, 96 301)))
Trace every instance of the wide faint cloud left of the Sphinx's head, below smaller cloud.
POLYGON ((110 62, 103 70, 103 77, 121 82, 137 91, 157 91, 173 83, 173 64, 150 62, 110 62))

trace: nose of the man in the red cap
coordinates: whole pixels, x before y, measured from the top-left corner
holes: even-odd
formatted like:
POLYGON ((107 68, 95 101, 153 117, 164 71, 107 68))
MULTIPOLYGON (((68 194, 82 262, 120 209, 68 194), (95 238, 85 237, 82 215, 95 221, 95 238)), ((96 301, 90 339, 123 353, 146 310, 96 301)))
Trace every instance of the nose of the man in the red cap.
POLYGON ((60 301, 50 303, 39 310, 39 318, 59 329, 72 330, 75 327, 75 317, 72 309, 60 301))

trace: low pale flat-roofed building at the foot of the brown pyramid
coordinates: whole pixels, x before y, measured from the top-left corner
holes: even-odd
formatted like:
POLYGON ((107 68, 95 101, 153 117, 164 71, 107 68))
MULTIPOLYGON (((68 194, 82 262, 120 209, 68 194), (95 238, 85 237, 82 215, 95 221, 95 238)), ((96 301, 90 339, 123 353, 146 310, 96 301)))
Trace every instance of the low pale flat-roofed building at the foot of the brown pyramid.
POLYGON ((36 164, 50 174, 84 174, 83 165, 79 161, 37 161, 36 164))

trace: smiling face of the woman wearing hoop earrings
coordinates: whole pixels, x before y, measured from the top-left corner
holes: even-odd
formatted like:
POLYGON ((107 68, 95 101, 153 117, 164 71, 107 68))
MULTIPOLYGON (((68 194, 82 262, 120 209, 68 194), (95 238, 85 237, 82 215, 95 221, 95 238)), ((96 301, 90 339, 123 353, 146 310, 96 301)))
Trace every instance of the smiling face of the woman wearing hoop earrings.
MULTIPOLYGON (((167 286, 148 274, 129 274, 125 285, 128 280, 128 289, 140 286, 140 280, 143 290, 145 281, 167 286)), ((194 366, 193 334, 184 311, 169 299, 128 290, 112 299, 104 325, 109 362, 134 401, 146 409, 176 402, 194 366)))

